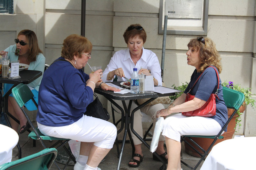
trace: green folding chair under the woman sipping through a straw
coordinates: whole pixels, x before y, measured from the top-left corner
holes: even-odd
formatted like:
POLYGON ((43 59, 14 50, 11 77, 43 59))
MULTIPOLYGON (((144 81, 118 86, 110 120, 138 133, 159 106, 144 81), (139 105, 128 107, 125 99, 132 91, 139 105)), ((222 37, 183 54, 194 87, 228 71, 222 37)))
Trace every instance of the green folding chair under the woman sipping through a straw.
MULTIPOLYGON (((22 112, 24 113, 25 117, 28 120, 28 123, 30 124, 30 126, 32 127, 33 131, 31 131, 28 135, 29 138, 35 139, 35 140, 39 140, 40 143, 43 145, 44 148, 47 148, 43 142, 43 140, 57 140, 52 146, 50 146, 50 148, 52 147, 56 147, 56 149, 60 149, 61 147, 63 147, 65 149, 65 151, 68 153, 69 155, 69 160, 66 163, 64 169, 67 167, 69 161, 72 159, 75 163, 76 163, 76 159, 74 158, 74 156, 72 155, 72 153, 70 151, 68 151, 67 147, 65 146, 65 144, 70 140, 70 139, 66 139, 66 138, 55 138, 55 137, 51 137, 51 136, 45 136, 43 135, 38 128, 35 128, 35 126, 32 124, 31 120, 29 119, 27 113, 25 112, 25 110, 23 109, 22 106, 24 106, 25 103, 27 103, 30 99, 32 99, 32 101, 34 102, 34 104, 36 105, 36 107, 38 108, 38 105, 36 103, 36 101, 33 98, 33 93, 31 92, 31 90, 29 89, 29 87, 25 84, 20 83, 19 85, 17 85, 16 87, 14 87, 12 89, 12 95, 14 97, 14 99, 16 100, 16 102, 18 103, 20 109, 22 110, 22 112)), ((57 165, 57 163, 54 161, 54 164, 57 166, 58 169, 60 169, 60 167, 57 165)))

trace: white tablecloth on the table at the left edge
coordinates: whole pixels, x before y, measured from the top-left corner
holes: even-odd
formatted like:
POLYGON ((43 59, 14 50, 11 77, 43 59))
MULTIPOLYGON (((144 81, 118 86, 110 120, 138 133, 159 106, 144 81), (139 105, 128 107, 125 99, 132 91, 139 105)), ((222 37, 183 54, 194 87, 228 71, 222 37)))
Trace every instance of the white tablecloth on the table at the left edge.
POLYGON ((8 126, 0 124, 0 165, 12 161, 12 149, 19 141, 19 135, 8 126))

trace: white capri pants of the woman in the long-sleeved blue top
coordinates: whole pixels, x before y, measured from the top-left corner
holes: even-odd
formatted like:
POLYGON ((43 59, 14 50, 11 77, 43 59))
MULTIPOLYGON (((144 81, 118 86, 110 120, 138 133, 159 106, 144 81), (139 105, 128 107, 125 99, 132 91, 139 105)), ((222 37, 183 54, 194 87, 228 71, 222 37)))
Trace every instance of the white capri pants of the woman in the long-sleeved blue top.
POLYGON ((111 149, 116 140, 116 126, 108 121, 83 115, 81 119, 66 126, 45 126, 39 124, 38 129, 46 136, 67 138, 81 142, 94 142, 94 145, 111 149))

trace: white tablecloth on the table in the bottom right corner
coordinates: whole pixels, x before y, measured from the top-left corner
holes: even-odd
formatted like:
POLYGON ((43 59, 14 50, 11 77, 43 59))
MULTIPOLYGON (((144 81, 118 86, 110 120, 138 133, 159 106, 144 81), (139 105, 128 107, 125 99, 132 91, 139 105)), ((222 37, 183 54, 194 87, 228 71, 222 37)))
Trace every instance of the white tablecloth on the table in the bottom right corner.
POLYGON ((256 137, 224 140, 213 146, 200 170, 256 169, 256 137))

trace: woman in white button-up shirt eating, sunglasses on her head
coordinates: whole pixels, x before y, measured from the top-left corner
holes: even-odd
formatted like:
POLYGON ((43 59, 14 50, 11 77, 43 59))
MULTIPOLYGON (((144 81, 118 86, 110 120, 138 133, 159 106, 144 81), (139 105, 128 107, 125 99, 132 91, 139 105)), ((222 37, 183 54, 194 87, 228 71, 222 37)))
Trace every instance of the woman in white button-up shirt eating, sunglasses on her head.
MULTIPOLYGON (((143 45, 146 42, 147 34, 144 28, 140 24, 130 25, 124 32, 124 41, 128 48, 125 50, 117 51, 111 58, 107 68, 103 72, 103 81, 113 81, 113 78, 117 77, 117 81, 126 81, 124 77, 131 78, 133 68, 137 68, 138 73, 153 75, 154 85, 161 86, 161 67, 158 58, 155 53, 150 50, 144 49, 143 45), (149 72, 150 70, 150 72, 149 72)), ((121 101, 115 100, 120 106, 123 107, 121 101)), ((128 105, 129 100, 126 101, 128 105)), ((132 102, 131 111, 138 105, 132 102)), ((115 110, 118 110, 113 106, 115 110)), ((142 115, 141 111, 149 115, 153 119, 153 128, 156 123, 156 112, 164 109, 163 104, 155 104, 150 106, 144 106, 140 110, 134 113, 134 130, 143 138, 142 132, 142 115)), ((141 141, 132 133, 132 140, 135 147, 134 155, 129 161, 128 166, 138 167, 143 160, 143 153, 141 149, 141 141)), ((161 135, 156 149, 156 153, 159 154, 167 161, 167 153, 164 150, 164 137, 161 135)), ((159 160, 153 155, 154 160, 159 160)))

